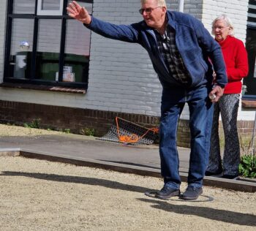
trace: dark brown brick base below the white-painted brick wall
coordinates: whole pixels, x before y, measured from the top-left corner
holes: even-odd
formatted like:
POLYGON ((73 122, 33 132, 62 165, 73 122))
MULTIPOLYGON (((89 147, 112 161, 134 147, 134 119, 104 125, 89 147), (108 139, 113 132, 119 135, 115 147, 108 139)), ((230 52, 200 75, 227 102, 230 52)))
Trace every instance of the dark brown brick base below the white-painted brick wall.
MULTIPOLYGON (((80 129, 94 129, 95 135, 101 137, 108 132, 116 116, 148 128, 159 124, 157 116, 0 100, 1 124, 23 126, 24 123, 39 119, 39 125, 45 129, 70 129, 70 132, 75 134, 80 134, 80 129)), ((238 121, 240 135, 252 135, 253 126, 254 121, 238 121)), ((220 132, 221 130, 220 123, 220 132)), ((177 145, 187 148, 190 146, 189 123, 186 120, 180 120, 178 123, 177 145)))

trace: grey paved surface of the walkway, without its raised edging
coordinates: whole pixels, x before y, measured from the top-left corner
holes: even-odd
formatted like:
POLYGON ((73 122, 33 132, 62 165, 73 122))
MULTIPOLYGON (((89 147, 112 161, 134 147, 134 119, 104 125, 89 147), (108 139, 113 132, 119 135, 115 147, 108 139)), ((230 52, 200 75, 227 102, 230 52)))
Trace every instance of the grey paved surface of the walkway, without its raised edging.
MULTIPOLYGON (((1 148, 22 148, 34 152, 61 154, 74 158, 150 167, 159 170, 157 145, 122 145, 82 135, 41 135, 36 137, 1 137, 1 148)), ((180 170, 187 173, 189 149, 178 148, 180 170)))

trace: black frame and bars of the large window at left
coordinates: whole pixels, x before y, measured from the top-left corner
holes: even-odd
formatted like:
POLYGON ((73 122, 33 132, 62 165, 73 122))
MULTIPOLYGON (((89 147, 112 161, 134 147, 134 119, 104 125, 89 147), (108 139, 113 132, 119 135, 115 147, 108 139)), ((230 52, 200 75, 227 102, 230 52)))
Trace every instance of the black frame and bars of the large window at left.
MULTIPOLYGON (((34 85, 46 85, 46 86, 63 86, 63 87, 74 87, 74 88, 88 88, 88 76, 89 76, 89 65, 87 70, 86 82, 62 82, 63 67, 65 61, 65 40, 66 40, 66 29, 67 20, 74 20, 69 18, 67 15, 66 6, 68 0, 63 1, 63 12, 62 15, 37 15, 37 0, 35 2, 34 14, 13 14, 13 0, 9 0, 7 4, 7 32, 5 37, 5 52, 4 52, 4 83, 25 83, 34 85), (18 79, 10 77, 10 49, 11 49, 11 37, 12 37, 12 20, 15 18, 29 18, 34 20, 34 34, 33 34, 33 47, 32 47, 32 58, 31 58, 31 71, 29 79, 18 79), (61 20, 61 40, 60 40, 60 51, 59 51, 59 80, 39 80, 36 78, 36 56, 37 56, 37 41, 38 41, 38 26, 39 19, 57 19, 61 20)), ((93 0, 84 1, 93 4, 93 0)), ((90 38, 91 39, 91 38, 90 38)), ((90 61, 90 60, 89 60, 90 61)))

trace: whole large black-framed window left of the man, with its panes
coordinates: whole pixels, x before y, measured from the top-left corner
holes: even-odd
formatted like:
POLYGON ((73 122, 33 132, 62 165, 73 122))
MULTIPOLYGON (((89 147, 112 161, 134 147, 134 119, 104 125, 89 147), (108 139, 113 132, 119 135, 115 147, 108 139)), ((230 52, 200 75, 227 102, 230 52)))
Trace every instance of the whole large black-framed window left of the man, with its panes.
MULTIPOLYGON (((91 31, 69 18, 69 2, 9 1, 4 82, 87 88, 91 31)), ((92 0, 78 3, 92 12, 92 0)))

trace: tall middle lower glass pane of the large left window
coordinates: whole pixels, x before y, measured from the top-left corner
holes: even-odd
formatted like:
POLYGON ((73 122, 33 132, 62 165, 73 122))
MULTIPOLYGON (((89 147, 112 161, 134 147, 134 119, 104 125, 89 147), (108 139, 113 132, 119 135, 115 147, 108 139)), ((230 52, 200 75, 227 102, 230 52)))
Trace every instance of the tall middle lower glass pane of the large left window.
POLYGON ((56 80, 59 72, 61 20, 39 20, 36 75, 40 80, 56 80))

